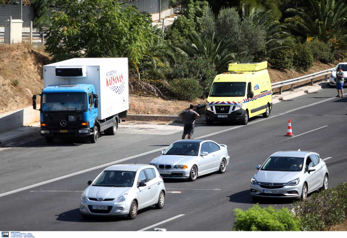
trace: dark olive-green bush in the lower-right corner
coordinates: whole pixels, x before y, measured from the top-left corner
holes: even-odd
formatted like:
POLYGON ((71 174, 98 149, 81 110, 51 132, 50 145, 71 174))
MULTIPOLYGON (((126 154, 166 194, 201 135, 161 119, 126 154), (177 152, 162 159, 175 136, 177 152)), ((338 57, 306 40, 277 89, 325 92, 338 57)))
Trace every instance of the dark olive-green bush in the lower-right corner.
POLYGON ((304 230, 321 231, 347 218, 347 183, 314 193, 293 204, 304 230))

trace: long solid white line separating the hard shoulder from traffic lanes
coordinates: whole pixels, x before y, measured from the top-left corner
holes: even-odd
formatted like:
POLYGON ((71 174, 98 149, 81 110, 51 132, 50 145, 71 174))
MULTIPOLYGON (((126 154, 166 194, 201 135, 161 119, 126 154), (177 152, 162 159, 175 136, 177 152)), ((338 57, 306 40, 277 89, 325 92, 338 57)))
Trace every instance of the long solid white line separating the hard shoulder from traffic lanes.
MULTIPOLYGON (((321 100, 321 101, 316 102, 316 103, 311 103, 311 104, 306 105, 306 106, 302 106, 302 107, 298 107, 298 108, 295 108, 295 109, 291 109, 289 111, 282 112, 282 113, 280 113, 278 115, 271 116, 271 117, 268 117, 268 118, 257 119, 257 120, 255 120, 253 122, 249 122, 248 125, 251 125, 251 124, 254 124, 254 123, 257 123, 257 122, 262 122, 264 120, 268 120, 268 119, 271 119, 271 118, 274 118, 274 117, 277 117, 277 116, 281 116, 281 115, 284 115, 284 114, 287 114, 287 113, 290 113, 290 112, 294 112, 294 111, 297 111, 297 110, 305 108, 305 107, 310 107, 310 106, 314 106, 316 104, 324 103, 324 102, 327 102, 327 101, 332 100, 332 99, 335 99, 335 97, 327 98, 327 99, 321 100)), ((242 125, 242 126, 245 126, 245 125, 242 125)), ((220 133, 223 133, 223 132, 226 132, 226 131, 231 131, 231 130, 240 128, 242 126, 232 127, 232 128, 226 129, 226 130, 222 130, 222 131, 218 131, 218 132, 212 133, 212 134, 200 136, 200 137, 195 138, 195 139, 201 139, 201 138, 205 138, 205 137, 208 137, 208 136, 211 136, 211 135, 216 135, 216 134, 220 134, 220 133)), ((90 168, 90 169, 85 169, 85 170, 82 170, 82 171, 79 171, 79 172, 76 172, 76 173, 68 174, 68 175, 65 175, 65 176, 58 177, 58 178, 53 178, 53 179, 50 179, 50 180, 47 180, 47 181, 44 181, 44 182, 41 182, 41 183, 33 184, 33 185, 26 186, 26 187, 23 187, 23 188, 18 188, 18 189, 15 189, 15 190, 12 190, 12 191, 9 191, 9 192, 6 192, 6 193, 2 193, 2 194, 0 194, 0 197, 6 196, 6 195, 10 195, 12 193, 17 193, 17 192, 20 192, 20 191, 23 191, 23 190, 26 190, 26 189, 29 189, 29 188, 33 188, 33 187, 41 186, 41 185, 44 185, 44 184, 52 183, 52 182, 55 182, 55 181, 60 180, 60 179, 64 179, 64 178, 72 177, 72 176, 75 176, 75 175, 78 175, 78 174, 82 174, 82 173, 85 173, 85 172, 89 172, 89 171, 92 171, 94 169, 99 169, 99 168, 106 167, 106 166, 109 166, 109 165, 117 164, 119 162, 126 161, 126 160, 129 160, 129 159, 134 159, 134 158, 137 158, 137 157, 148 155, 150 153, 153 153, 153 152, 156 152, 156 151, 160 151, 160 150, 163 150, 163 149, 166 149, 166 148, 167 147, 162 147, 162 148, 159 148, 159 149, 156 149, 156 150, 151 150, 149 152, 145 152, 145 153, 142 153, 142 154, 139 154, 139 155, 135 155, 135 156, 128 157, 128 158, 125 158, 125 159, 120 159, 120 160, 113 161, 113 162, 110 162, 110 163, 107 163, 107 164, 104 164, 104 165, 99 165, 99 166, 96 166, 96 167, 93 167, 93 168, 90 168)))

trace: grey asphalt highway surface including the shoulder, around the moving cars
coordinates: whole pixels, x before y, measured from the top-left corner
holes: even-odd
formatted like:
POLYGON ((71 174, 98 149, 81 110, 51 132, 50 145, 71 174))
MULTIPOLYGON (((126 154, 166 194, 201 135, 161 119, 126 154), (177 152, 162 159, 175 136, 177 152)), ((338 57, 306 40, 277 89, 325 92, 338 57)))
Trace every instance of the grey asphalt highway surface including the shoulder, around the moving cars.
MULTIPOLYGON (((49 146, 42 138, 32 138, 33 141, 0 152, 0 227, 37 231, 140 230, 184 214, 155 227, 172 231, 231 230, 232 211, 254 204, 249 196, 249 182, 257 171, 255 166, 273 152, 301 149, 318 152, 323 159, 331 157, 325 161, 330 174, 329 186, 347 181, 347 98, 332 98, 335 95, 335 89, 324 89, 275 104, 269 118, 255 118, 246 126, 196 127, 195 138, 227 144, 230 164, 226 173, 199 177, 195 182, 165 180, 167 191, 171 192, 167 194, 165 207, 139 211, 132 221, 81 218, 78 210, 81 193, 87 180, 94 179, 104 167, 3 194, 132 156, 135 158, 121 163, 149 164, 159 155, 157 151, 136 155, 165 147, 179 139, 181 133, 119 134, 102 136, 96 144, 58 142, 49 146), (283 136, 288 118, 297 135, 294 138, 283 136), (215 132, 220 133, 213 134, 215 132)), ((261 202, 261 206, 269 205, 290 207, 291 202, 261 202)))

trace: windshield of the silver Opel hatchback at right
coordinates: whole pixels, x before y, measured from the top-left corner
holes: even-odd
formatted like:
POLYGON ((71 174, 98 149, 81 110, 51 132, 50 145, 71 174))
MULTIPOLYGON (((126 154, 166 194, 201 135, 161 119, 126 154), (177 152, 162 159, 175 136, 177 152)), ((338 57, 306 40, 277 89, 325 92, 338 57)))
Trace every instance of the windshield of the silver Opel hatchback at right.
POLYGON ((261 170, 297 172, 303 169, 303 164, 304 158, 274 156, 266 160, 261 170))

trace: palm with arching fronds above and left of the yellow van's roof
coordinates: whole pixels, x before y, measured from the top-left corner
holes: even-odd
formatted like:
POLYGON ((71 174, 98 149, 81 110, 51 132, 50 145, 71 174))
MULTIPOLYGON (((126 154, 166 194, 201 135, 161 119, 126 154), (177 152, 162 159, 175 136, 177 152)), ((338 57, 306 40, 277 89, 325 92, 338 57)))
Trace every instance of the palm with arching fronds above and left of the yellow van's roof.
POLYGON ((214 33, 211 37, 202 37, 193 32, 189 35, 189 39, 191 41, 189 44, 177 47, 176 50, 187 57, 204 56, 215 65, 218 72, 225 71, 228 63, 234 62, 238 55, 231 52, 230 42, 225 39, 217 39, 214 33))

